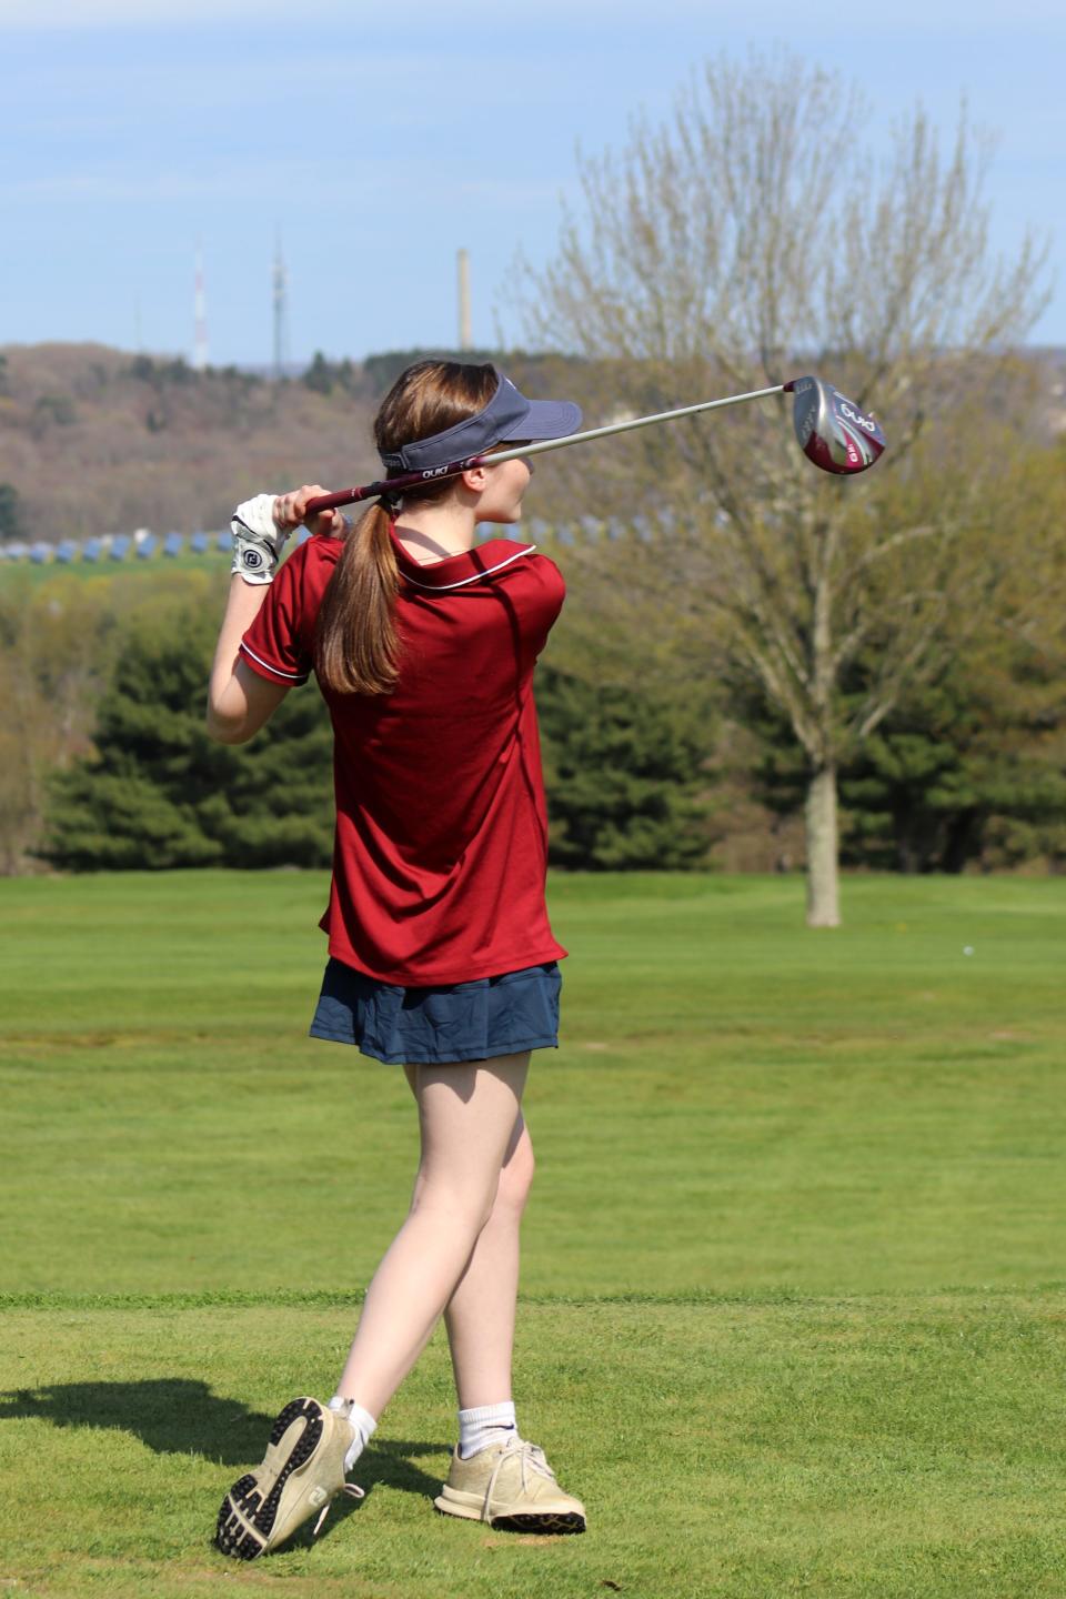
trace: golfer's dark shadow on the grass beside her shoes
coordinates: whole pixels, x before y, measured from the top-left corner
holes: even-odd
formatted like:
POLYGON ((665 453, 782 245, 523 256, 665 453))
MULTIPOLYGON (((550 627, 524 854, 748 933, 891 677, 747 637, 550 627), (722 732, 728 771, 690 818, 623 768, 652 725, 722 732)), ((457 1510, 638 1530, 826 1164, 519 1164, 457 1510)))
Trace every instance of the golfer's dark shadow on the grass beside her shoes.
MULTIPOLYGON (((203 1455, 225 1466, 256 1466, 273 1425, 272 1415, 248 1410, 237 1399, 213 1394, 206 1383, 177 1377, 139 1383, 56 1383, 0 1393, 0 1422, 51 1422, 53 1426, 115 1428, 133 1433, 160 1455, 203 1455)), ((441 1490, 441 1477, 420 1471, 412 1458, 451 1453, 451 1444, 390 1439, 360 1457, 369 1493, 385 1485, 404 1493, 441 1490)), ((348 1509, 336 1505, 337 1521, 348 1509)))

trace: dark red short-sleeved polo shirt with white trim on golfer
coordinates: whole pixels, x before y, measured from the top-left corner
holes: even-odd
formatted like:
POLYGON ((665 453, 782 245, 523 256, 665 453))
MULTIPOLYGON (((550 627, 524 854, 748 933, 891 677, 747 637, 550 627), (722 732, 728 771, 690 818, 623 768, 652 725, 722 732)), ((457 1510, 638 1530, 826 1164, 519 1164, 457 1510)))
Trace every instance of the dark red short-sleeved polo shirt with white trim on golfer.
MULTIPOLYGON (((462 983, 566 955, 545 908, 548 823, 532 675, 564 584, 534 545, 494 539, 400 561, 392 694, 323 688, 337 830, 329 953, 403 987, 462 983)), ((241 641, 272 683, 305 683, 344 545, 308 539, 241 641)), ((321 688, 321 684, 320 684, 321 688)))

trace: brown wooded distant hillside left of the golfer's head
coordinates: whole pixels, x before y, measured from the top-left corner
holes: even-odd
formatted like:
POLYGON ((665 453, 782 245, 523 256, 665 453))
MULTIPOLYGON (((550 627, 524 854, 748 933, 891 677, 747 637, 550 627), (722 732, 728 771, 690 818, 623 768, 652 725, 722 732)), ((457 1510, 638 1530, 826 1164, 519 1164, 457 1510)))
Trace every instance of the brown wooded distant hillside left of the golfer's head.
POLYGON ((0 349, 0 484, 22 532, 54 542, 149 526, 221 528, 261 489, 374 475, 372 393, 96 344, 0 349), (324 392, 328 390, 328 392, 324 392))

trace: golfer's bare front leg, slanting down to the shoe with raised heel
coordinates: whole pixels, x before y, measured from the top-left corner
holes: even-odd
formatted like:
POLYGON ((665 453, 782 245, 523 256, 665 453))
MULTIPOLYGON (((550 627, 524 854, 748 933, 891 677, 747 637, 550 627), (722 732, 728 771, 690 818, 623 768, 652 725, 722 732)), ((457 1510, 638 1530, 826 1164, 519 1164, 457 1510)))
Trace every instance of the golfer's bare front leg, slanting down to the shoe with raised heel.
POLYGON ((416 1067, 422 1159, 408 1220, 374 1274, 337 1393, 379 1417, 492 1215, 529 1054, 416 1067))

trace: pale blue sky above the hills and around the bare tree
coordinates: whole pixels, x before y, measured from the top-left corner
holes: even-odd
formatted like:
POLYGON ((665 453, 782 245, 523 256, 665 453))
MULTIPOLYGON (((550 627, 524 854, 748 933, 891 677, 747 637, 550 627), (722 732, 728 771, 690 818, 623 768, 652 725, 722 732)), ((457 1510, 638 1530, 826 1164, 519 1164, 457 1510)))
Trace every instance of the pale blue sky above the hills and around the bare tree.
MULTIPOLYGON (((575 150, 666 114, 689 69, 785 46, 865 91, 874 144, 962 96, 997 133, 992 245, 1060 224, 1066 6, 941 0, 0 0, 0 344, 270 358, 283 230, 294 360, 455 339, 455 251, 492 342, 518 249, 551 254, 575 150)), ((1036 342, 1066 345, 1066 245, 1036 342)))

